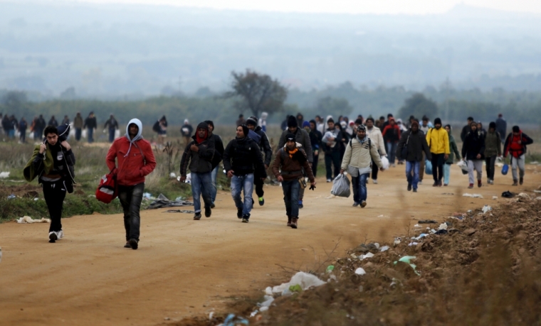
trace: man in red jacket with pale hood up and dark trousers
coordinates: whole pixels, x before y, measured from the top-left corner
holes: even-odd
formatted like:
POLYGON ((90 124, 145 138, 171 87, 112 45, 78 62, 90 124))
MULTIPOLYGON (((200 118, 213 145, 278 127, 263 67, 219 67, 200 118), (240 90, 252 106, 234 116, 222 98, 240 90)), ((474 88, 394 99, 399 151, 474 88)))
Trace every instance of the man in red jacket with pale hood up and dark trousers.
POLYGON ((141 121, 131 119, 126 126, 125 136, 112 142, 105 158, 107 167, 117 177, 118 199, 124 210, 124 247, 134 250, 139 246, 145 176, 156 168, 152 146, 143 139, 142 130, 141 121))

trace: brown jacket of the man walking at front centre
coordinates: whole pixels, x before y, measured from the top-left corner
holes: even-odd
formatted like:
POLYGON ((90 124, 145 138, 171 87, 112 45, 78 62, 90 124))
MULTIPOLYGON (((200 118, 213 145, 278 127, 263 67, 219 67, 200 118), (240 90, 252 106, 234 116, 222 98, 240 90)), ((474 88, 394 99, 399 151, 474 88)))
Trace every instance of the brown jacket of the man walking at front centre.
POLYGON ((312 173, 312 167, 310 166, 310 162, 308 162, 306 153, 302 146, 300 146, 300 143, 297 143, 297 149, 298 152, 293 154, 293 157, 291 158, 289 157, 288 150, 285 146, 278 150, 273 162, 273 174, 276 178, 281 175, 283 180, 290 181, 298 179, 303 175, 304 168, 306 175, 308 175, 308 179, 313 183, 315 178, 312 173))

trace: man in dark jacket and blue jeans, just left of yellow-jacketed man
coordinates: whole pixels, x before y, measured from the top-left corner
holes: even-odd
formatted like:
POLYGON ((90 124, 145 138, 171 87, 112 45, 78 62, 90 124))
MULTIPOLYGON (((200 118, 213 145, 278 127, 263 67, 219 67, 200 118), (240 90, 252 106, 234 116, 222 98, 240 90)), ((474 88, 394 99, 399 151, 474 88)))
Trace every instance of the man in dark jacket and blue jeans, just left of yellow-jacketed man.
POLYGON ((414 120, 411 122, 411 128, 402 134, 398 146, 396 147, 396 157, 406 160, 408 191, 413 188, 414 192, 417 192, 417 185, 419 184, 419 168, 421 167, 421 161, 424 160, 423 153, 426 154, 426 159, 430 160, 432 158, 429 144, 426 143, 426 137, 424 136, 423 131, 419 130, 419 122, 414 120), (404 153, 402 153, 403 149, 404 153))

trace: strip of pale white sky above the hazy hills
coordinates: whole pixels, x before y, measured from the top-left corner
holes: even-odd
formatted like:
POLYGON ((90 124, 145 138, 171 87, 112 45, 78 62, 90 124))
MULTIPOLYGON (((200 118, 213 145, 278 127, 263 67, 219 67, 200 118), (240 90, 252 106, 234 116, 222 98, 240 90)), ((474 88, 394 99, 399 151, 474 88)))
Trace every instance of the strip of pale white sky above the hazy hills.
MULTIPOLYGON (((1 1, 1 0, 0 0, 1 1)), ((39 0, 50 2, 51 0, 39 0)), ((503 11, 541 13, 541 0, 64 0, 100 4, 169 4, 176 6, 241 9, 258 11, 297 11, 322 13, 443 13, 457 4, 503 11)), ((57 1, 55 1, 58 4, 57 1)))

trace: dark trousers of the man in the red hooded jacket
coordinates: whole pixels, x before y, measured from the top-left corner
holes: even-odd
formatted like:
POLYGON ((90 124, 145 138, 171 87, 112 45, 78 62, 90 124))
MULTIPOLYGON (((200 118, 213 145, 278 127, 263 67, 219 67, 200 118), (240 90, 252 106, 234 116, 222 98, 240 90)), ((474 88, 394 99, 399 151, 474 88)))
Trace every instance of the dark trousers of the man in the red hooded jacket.
POLYGON ((143 200, 143 192, 145 191, 145 183, 137 185, 119 185, 118 199, 124 211, 124 228, 126 229, 126 241, 136 239, 139 241, 139 232, 141 226, 141 202, 143 200))

